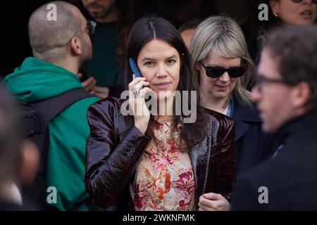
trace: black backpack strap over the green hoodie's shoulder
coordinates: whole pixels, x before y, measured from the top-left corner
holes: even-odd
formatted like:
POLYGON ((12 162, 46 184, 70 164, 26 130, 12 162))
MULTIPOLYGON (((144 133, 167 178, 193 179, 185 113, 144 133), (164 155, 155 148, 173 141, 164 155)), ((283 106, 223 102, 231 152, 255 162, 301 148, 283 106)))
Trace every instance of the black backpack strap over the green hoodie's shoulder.
POLYGON ((39 110, 49 122, 68 106, 83 98, 90 97, 93 97, 92 94, 85 89, 73 89, 52 98, 30 103, 30 105, 39 110))

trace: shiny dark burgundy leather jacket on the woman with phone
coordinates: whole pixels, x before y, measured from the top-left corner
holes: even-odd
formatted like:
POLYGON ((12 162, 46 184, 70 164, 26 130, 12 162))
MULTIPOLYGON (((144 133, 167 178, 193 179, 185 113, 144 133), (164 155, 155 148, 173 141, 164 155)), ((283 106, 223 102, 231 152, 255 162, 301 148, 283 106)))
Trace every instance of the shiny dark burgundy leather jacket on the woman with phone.
MULTIPOLYGON (((85 185, 93 202, 107 210, 132 210, 129 184, 137 161, 151 141, 120 113, 122 102, 106 98, 90 106, 87 118, 85 185)), ((228 197, 236 179, 233 143, 235 124, 230 117, 206 110, 207 135, 189 151, 195 179, 195 203, 203 193, 228 197)), ((198 209, 198 207, 197 207, 198 209)))

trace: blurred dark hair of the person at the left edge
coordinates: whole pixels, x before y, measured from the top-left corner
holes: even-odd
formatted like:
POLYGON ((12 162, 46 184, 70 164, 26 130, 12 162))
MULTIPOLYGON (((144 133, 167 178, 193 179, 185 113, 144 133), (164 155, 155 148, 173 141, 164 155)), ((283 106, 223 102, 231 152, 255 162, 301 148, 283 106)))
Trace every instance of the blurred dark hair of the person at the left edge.
POLYGON ((21 139, 18 112, 13 97, 0 80, 0 186, 17 175, 20 166, 21 139))

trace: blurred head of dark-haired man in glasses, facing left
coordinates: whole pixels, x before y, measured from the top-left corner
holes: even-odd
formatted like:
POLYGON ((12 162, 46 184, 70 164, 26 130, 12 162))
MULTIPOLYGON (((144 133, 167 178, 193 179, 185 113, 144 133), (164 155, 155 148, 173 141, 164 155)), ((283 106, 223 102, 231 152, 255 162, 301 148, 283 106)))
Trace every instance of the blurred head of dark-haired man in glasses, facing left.
POLYGON ((282 27, 268 34, 252 97, 262 128, 277 131, 317 105, 317 27, 282 27))

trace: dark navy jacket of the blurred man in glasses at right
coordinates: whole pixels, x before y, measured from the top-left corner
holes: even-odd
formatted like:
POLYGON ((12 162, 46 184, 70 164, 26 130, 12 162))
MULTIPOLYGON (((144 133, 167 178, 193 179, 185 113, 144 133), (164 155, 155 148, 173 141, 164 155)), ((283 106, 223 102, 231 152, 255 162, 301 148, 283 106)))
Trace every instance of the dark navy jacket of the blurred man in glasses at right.
POLYGON ((282 144, 278 155, 238 179, 232 210, 317 211, 317 109, 275 135, 282 144))

